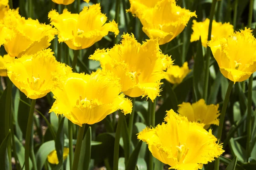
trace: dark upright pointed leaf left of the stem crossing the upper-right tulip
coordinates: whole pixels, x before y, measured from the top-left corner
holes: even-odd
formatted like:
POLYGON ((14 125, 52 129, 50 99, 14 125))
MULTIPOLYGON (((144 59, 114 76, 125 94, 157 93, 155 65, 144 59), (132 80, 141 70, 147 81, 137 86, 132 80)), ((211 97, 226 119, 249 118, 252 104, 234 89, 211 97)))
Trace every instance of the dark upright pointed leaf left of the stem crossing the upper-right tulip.
POLYGON ((200 37, 197 44, 195 64, 193 68, 193 89, 194 89, 195 100, 196 100, 195 102, 197 102, 198 99, 201 99, 203 95, 203 85, 201 84, 203 73, 204 73, 204 56, 203 56, 203 48, 202 48, 202 42, 200 37))

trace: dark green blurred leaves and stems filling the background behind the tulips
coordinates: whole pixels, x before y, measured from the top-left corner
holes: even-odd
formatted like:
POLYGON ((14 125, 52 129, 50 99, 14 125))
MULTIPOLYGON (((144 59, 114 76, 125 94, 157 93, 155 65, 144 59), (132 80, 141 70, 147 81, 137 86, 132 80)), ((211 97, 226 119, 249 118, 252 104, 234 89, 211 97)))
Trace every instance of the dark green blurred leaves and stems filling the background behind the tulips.
MULTIPOLYGON (((142 31, 142 25, 138 18, 133 17, 131 13, 126 13, 126 9, 130 8, 130 3, 128 0, 91 0, 90 5, 93 3, 100 3, 102 8, 102 13, 106 14, 108 20, 115 19, 116 16, 116 2, 120 2, 120 17, 119 25, 119 35, 117 40, 114 39, 114 34, 109 34, 104 37, 99 42, 96 42, 93 46, 87 49, 80 50, 80 55, 78 59, 78 72, 91 73, 99 68, 99 62, 89 60, 88 57, 93 54, 97 48, 112 48, 116 42, 121 40, 121 35, 123 33, 133 33, 139 42, 142 42, 148 37, 142 31), (116 41, 116 42, 115 42, 116 41)), ((209 12, 211 8, 212 0, 177 0, 177 4, 181 7, 189 9, 190 11, 196 11, 197 18, 193 17, 187 27, 179 34, 174 40, 165 45, 160 45, 161 50, 164 54, 172 56, 175 65, 183 65, 184 62, 189 63, 189 68, 192 71, 183 79, 176 87, 163 80, 164 84, 161 86, 163 91, 161 96, 157 99, 157 111, 155 118, 155 125, 163 122, 166 111, 173 109, 177 111, 177 105, 182 102, 195 102, 202 98, 203 87, 204 87, 204 55, 206 53, 206 48, 201 46, 201 42, 190 42, 190 35, 192 34, 192 20, 203 21, 205 18, 209 17, 209 12)), ((29 14, 28 10, 29 0, 13 0, 14 8, 19 8, 20 15, 27 17, 29 14)), ((48 12, 52 9, 57 11, 62 11, 64 8, 68 8, 72 13, 76 13, 77 8, 81 9, 87 6, 84 1, 75 0, 74 3, 63 6, 53 3, 51 0, 32 0, 32 19, 38 19, 41 23, 49 24, 48 12)), ((215 8, 214 19, 217 22, 230 22, 233 24, 236 31, 243 29, 247 26, 248 12, 249 11, 249 0, 221 0, 218 1, 215 8)), ((170 16, 171 17, 171 16, 170 16)), ((256 1, 254 1, 253 6, 253 23, 252 29, 256 26, 256 1)), ((61 58, 59 61, 71 65, 73 59, 73 50, 69 49, 66 44, 60 43, 58 45, 57 37, 52 41, 50 46, 52 50, 57 54, 59 53, 61 58)), ((0 48, 0 54, 6 54, 3 46, 0 48)), ((143 63, 142 63, 143 64, 143 63)), ((227 91, 228 80, 223 77, 220 73, 218 64, 213 57, 210 60, 210 70, 209 70, 209 91, 207 104, 219 104, 219 110, 222 107, 222 101, 224 100, 225 93, 227 91)), ((245 150, 246 148, 246 116, 247 116, 247 81, 245 85, 237 82, 233 86, 233 90, 230 95, 230 103, 227 108, 227 114, 225 119, 225 128, 222 133, 222 142, 224 142, 225 153, 221 156, 221 169, 225 169, 228 164, 230 166, 228 170, 255 170, 256 169, 256 74, 253 78, 253 129, 252 129, 252 139, 251 150, 245 150), (246 162, 246 153, 250 151, 251 157, 249 162, 246 162), (235 158, 235 159, 233 159, 235 158), (236 161, 231 161, 236 160, 236 161)), ((4 125, 4 109, 6 102, 6 80, 1 78, 0 85, 0 129, 4 125)), ((12 129, 15 133, 9 135, 12 142, 15 143, 15 147, 12 148, 13 152, 13 169, 20 170, 24 163, 24 139, 26 135, 26 125, 29 113, 30 99, 20 92, 15 86, 12 89, 12 129), (15 164, 16 162, 16 164, 15 164)), ((37 169, 53 170, 58 169, 57 165, 54 166, 49 164, 47 160, 47 155, 55 149, 55 142, 58 144, 68 146, 68 125, 67 119, 64 120, 63 127, 59 125, 58 118, 55 114, 48 113, 50 106, 52 105, 54 99, 52 98, 52 93, 47 94, 47 96, 38 99, 36 105, 36 114, 34 115, 34 128, 33 128, 33 141, 32 148, 34 149, 34 154, 31 156, 37 162, 37 169), (53 130, 53 136, 51 133, 53 130), (64 136, 59 136, 59 131, 64 131, 64 136), (61 139, 64 138, 64 143, 61 139), (58 140, 56 140, 58 139, 58 140), (54 142, 55 140, 55 142, 54 142)), ((147 170, 148 162, 148 148, 145 143, 140 142, 137 139, 137 133, 143 130, 147 125, 150 125, 148 121, 148 102, 145 98, 136 98, 135 105, 135 119, 133 123, 132 138, 129 143, 128 139, 128 120, 129 116, 125 116, 125 120, 122 126, 122 137, 120 140, 120 150, 119 150, 119 170, 132 170, 136 167, 138 170, 147 170), (137 162, 137 164, 136 164, 137 162)), ((113 147, 115 140, 115 129, 116 129, 116 119, 118 115, 116 113, 107 116, 101 122, 94 125, 86 125, 86 134, 89 135, 91 140, 84 140, 83 146, 86 147, 83 153, 81 153, 81 159, 90 160, 90 166, 87 168, 89 170, 106 167, 108 170, 112 169, 113 166, 113 147), (91 149, 88 149, 91 146, 91 149)), ((78 128, 73 126, 73 139, 76 139, 78 128)), ((213 134, 216 134, 216 126, 211 127, 213 134)), ((8 136, 7 136, 8 137, 8 136)), ((0 131, 0 143, 4 146, 5 133, 0 131)), ((84 138, 88 139, 88 138, 84 138)), ((74 144, 76 140, 73 141, 74 144)), ((1 147, 2 147, 1 145, 1 147)), ((4 160, 5 155, 2 154, 3 150, 0 150, 0 160, 4 160)), ((31 160, 33 161, 33 160, 31 160)), ((79 168, 86 170, 86 167, 80 161, 79 168)), ((32 164, 32 162, 31 162, 32 164)), ((3 162, 0 162, 0 169, 3 167, 3 162)), ((32 166, 30 166, 32 167, 32 166)), ((165 166, 166 168, 167 166, 165 166)), ((66 159, 64 166, 65 170, 69 170, 69 159, 66 159)), ((163 164, 155 159, 155 170, 163 169, 163 164)), ((205 170, 212 170, 213 163, 209 163, 204 166, 205 170)))

